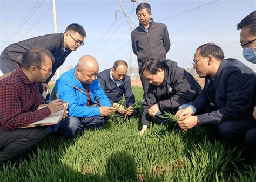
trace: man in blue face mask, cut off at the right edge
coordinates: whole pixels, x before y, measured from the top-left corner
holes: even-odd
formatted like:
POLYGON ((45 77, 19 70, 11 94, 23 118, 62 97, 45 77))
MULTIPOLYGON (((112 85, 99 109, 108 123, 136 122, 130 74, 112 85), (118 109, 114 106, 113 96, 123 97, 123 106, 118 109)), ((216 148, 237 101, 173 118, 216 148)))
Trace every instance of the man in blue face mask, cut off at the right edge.
MULTIPOLYGON (((256 11, 247 15, 237 25, 237 29, 241 30, 240 44, 243 48, 242 54, 244 58, 256 64, 256 11)), ((255 94, 255 93, 254 93, 255 94)), ((256 101, 255 101, 256 102, 256 101)), ((254 105, 253 117, 256 119, 256 106, 254 105)), ((256 122, 256 120, 255 120, 256 122)), ((256 157, 256 127, 249 130, 245 135, 245 143, 247 149, 256 157)))

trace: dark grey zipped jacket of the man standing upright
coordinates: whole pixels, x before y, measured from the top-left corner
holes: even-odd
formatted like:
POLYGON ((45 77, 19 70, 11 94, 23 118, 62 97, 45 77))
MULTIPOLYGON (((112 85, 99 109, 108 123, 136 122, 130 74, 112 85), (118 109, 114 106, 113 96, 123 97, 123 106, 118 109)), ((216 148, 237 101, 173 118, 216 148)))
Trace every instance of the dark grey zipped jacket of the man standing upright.
POLYGON ((132 31, 131 38, 132 50, 137 55, 139 66, 151 56, 159 58, 160 61, 166 60, 171 44, 165 24, 156 23, 151 19, 148 33, 140 24, 132 31))

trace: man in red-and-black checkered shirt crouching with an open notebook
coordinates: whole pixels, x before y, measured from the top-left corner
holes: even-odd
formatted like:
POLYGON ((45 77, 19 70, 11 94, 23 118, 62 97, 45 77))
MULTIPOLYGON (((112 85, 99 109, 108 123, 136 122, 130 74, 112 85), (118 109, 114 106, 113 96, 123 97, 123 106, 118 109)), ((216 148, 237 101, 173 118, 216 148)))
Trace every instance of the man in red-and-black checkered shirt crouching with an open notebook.
POLYGON ((32 49, 23 54, 21 66, 0 77, 0 166, 24 157, 44 136, 44 127, 21 127, 64 109, 57 99, 37 110, 43 103, 37 82, 49 78, 53 61, 48 50, 32 49))

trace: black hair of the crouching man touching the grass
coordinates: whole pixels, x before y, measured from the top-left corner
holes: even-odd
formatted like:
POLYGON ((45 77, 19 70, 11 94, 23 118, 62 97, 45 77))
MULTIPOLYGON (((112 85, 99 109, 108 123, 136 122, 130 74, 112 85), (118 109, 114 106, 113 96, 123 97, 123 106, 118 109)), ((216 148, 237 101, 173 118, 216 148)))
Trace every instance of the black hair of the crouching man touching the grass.
POLYGON ((157 74, 158 69, 164 69, 161 61, 156 57, 150 57, 142 62, 142 65, 139 67, 139 73, 147 71, 150 74, 157 74))

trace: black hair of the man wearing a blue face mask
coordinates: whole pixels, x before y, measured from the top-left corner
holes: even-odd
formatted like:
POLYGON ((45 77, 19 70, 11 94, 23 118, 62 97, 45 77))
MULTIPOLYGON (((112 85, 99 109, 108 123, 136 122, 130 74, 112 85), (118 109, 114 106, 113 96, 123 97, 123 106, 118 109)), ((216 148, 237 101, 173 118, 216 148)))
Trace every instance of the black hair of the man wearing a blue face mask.
POLYGON ((250 26, 250 33, 256 35, 256 11, 253 11, 249 15, 247 15, 244 19, 241 20, 239 24, 237 24, 237 30, 244 28, 245 26, 250 26))

